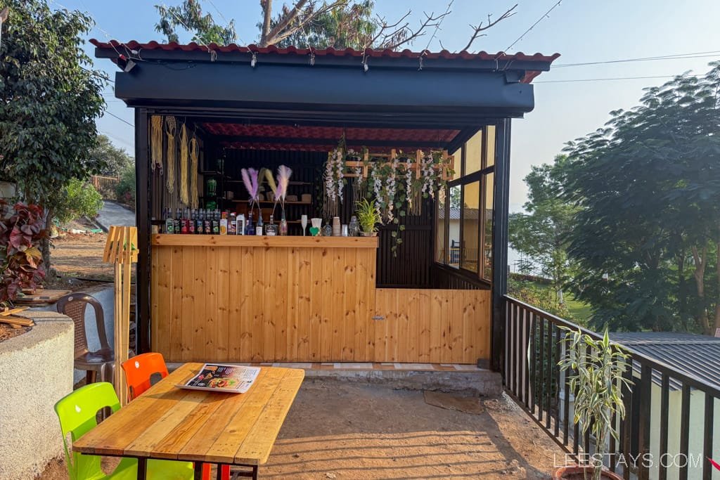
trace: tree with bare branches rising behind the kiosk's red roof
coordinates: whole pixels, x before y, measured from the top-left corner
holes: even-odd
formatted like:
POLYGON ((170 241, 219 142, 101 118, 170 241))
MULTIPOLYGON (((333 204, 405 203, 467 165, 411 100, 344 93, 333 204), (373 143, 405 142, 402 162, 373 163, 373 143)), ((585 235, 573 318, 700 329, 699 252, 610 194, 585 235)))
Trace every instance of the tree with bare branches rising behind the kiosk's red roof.
MULTIPOLYGON (((291 6, 282 4, 280 12, 274 14, 273 0, 261 0, 258 46, 397 50, 412 44, 428 32, 433 31, 434 36, 442 19, 451 13, 449 4, 442 14, 423 14, 424 19, 412 27, 408 20, 410 11, 393 22, 378 15, 373 16, 374 4, 374 0, 296 0, 291 6)), ((481 32, 512 17, 516 6, 505 10, 494 20, 488 15, 487 23, 470 25, 472 35, 464 50, 469 50, 474 40, 485 35, 481 32)), ((194 41, 206 45, 210 42, 227 45, 236 41, 234 21, 228 22, 227 27, 217 25, 212 15, 202 14, 199 0, 183 0, 180 6, 156 5, 156 9, 160 20, 155 29, 170 42, 178 40, 177 28, 192 32, 194 41)))

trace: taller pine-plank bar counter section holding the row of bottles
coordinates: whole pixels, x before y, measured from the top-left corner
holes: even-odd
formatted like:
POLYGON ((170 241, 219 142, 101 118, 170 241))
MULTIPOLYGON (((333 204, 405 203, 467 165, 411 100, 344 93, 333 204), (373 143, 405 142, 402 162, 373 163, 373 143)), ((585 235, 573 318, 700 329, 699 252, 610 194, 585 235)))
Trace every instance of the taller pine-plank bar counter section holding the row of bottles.
POLYGON ((153 235, 151 329, 168 361, 373 358, 377 237, 153 235))

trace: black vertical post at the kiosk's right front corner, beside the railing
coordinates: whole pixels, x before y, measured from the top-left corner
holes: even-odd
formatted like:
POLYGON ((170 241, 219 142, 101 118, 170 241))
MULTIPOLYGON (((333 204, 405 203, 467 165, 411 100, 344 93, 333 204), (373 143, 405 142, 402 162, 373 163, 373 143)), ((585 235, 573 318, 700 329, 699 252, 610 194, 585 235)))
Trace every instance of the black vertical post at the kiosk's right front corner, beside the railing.
MULTIPOLYGON (((492 222, 492 325, 491 362, 503 368, 505 345, 505 301, 508 293, 508 215, 510 214, 510 119, 495 130, 495 208, 492 222)), ((503 372, 505 374, 505 372, 503 372)))

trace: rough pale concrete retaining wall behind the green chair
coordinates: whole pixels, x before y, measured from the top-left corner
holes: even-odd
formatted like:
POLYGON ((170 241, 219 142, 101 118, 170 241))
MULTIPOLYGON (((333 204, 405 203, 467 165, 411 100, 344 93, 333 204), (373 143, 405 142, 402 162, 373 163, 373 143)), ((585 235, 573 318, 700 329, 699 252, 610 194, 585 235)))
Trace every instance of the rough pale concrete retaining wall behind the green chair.
POLYGON ((0 343, 0 479, 35 479, 63 456, 53 407, 73 389, 73 322, 25 313, 35 327, 0 343))

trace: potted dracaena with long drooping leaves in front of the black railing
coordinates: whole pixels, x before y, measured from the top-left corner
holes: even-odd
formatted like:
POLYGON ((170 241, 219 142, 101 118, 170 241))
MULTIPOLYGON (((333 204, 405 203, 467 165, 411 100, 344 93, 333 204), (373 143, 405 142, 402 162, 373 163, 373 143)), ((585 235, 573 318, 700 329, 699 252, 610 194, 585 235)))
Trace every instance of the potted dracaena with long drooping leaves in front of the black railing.
POLYGON ((552 478, 574 480, 592 476, 593 480, 621 480, 603 469, 603 459, 608 455, 610 435, 620 440, 612 419, 625 417, 622 388, 632 384, 623 376, 629 366, 628 355, 619 345, 610 343, 607 329, 601 340, 595 340, 580 328, 577 331, 562 328, 567 330, 563 340, 565 352, 558 365, 562 371, 570 371, 570 392, 575 392, 573 422, 580 424, 583 434, 588 429, 593 434, 595 454, 588 456, 588 464, 558 468, 552 478))

